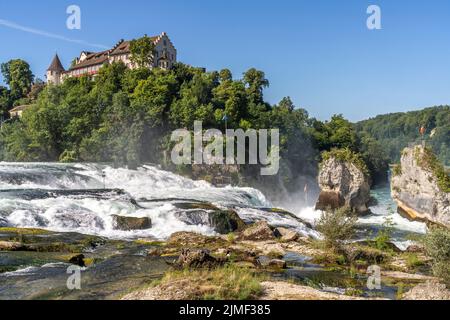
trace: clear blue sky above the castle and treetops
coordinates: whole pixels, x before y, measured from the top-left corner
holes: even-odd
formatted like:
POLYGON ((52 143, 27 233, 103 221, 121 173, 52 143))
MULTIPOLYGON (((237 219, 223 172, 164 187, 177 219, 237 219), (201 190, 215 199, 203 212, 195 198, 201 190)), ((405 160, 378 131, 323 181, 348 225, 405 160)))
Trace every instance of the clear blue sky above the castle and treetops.
POLYGON ((89 44, 162 31, 180 61, 235 77, 261 69, 269 102, 291 96, 320 119, 450 104, 448 0, 0 1, 0 62, 25 59, 43 78, 56 51, 67 66, 82 50, 100 50, 89 44), (81 30, 66 28, 71 4, 81 8, 81 30), (381 7, 382 30, 366 27, 370 4, 381 7))

